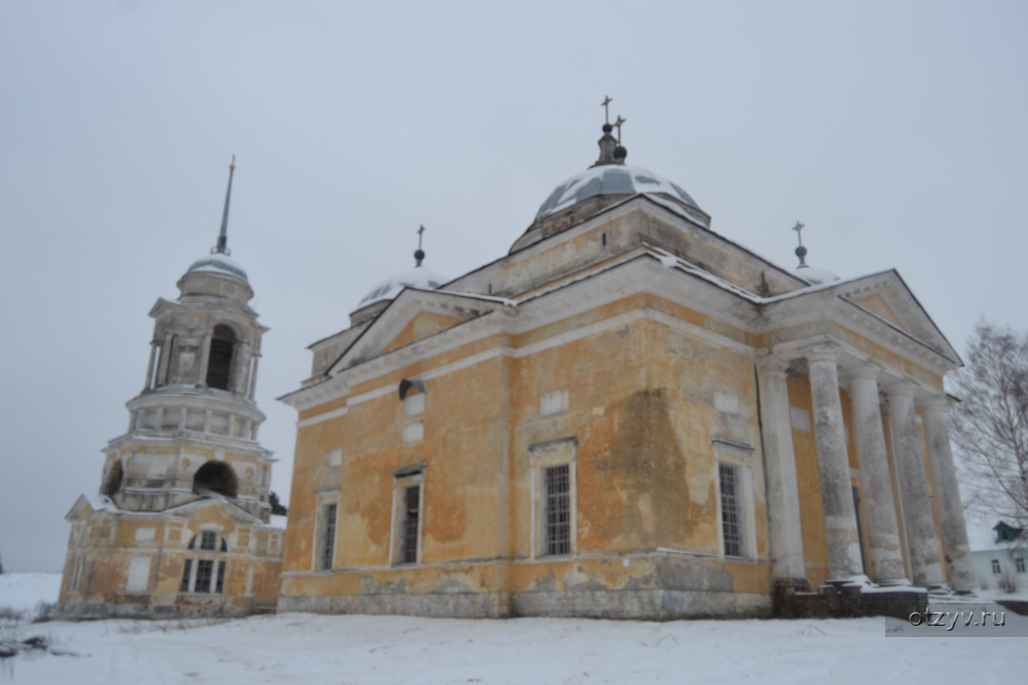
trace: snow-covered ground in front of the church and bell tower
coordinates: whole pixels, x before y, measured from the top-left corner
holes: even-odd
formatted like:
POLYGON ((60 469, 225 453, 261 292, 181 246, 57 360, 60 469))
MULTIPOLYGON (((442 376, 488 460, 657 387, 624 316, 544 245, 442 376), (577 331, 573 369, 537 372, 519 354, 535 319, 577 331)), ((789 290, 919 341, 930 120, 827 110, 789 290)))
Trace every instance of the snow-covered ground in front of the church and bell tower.
MULTIPOLYGON (((4 597, 0 594, 0 604, 4 597)), ((1021 617, 1024 619, 1024 617, 1021 617)), ((1024 619, 1028 620, 1028 619, 1024 619)), ((1028 639, 886 637, 882 618, 610 621, 280 614, 22 624, 0 681, 150 683, 1020 682, 1028 639)))

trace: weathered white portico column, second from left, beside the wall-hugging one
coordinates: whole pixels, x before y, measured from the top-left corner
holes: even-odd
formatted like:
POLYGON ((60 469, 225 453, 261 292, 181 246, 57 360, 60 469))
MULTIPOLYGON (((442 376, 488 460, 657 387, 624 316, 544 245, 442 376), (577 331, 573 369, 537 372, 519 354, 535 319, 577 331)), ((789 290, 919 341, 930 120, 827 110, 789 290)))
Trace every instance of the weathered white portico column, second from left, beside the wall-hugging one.
POLYGON ((831 343, 817 345, 807 352, 810 394, 814 406, 817 474, 821 485, 824 534, 829 543, 830 582, 866 577, 856 532, 842 399, 839 396, 838 356, 839 348, 831 343))

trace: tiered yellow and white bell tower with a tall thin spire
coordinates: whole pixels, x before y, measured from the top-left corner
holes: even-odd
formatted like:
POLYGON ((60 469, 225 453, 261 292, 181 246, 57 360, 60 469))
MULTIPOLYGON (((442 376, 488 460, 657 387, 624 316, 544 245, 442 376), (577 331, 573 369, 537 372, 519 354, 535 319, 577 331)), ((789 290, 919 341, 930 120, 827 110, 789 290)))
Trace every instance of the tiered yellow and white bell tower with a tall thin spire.
MULTIPOLYGON (((97 494, 78 498, 58 614, 171 618, 273 611, 284 526, 271 522, 271 453, 257 442, 261 336, 253 291, 218 244, 160 298, 128 430, 104 449, 97 494)), ((283 519, 283 517, 276 517, 283 519)), ((284 523, 284 522, 283 522, 284 523)))

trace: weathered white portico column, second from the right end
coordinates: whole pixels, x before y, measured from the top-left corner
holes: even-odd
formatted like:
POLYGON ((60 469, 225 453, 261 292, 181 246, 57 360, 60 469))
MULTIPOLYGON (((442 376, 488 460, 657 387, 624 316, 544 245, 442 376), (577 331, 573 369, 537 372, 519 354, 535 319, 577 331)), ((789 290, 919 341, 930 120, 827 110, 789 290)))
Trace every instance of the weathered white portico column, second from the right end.
POLYGON ((914 583, 925 587, 942 586, 945 582, 939 562, 939 540, 935 537, 935 520, 931 515, 928 477, 917 434, 914 386, 906 382, 897 383, 888 388, 888 396, 889 429, 900 474, 900 493, 907 524, 907 550, 914 583))

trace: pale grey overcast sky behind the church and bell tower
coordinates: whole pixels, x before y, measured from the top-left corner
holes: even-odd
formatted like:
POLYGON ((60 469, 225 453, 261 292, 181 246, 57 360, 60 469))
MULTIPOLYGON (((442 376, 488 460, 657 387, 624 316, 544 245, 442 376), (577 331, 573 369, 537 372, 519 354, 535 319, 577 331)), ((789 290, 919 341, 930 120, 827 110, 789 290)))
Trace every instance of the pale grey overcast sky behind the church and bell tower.
POLYGON ((718 232, 793 266, 803 221, 812 265, 896 267, 961 350, 979 316, 1026 328, 1026 35, 1024 2, 0 3, 5 570, 60 570, 233 153, 285 498, 305 346, 418 224, 450 276, 505 254, 608 93, 718 232))

